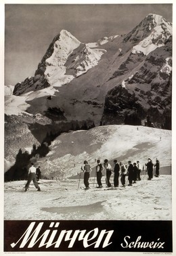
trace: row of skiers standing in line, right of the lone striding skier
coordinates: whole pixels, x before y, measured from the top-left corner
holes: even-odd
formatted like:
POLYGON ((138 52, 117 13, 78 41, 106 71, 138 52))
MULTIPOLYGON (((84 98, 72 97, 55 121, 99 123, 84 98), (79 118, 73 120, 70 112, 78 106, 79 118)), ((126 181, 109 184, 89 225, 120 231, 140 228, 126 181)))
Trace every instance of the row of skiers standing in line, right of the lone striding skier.
MULTIPOLYGON (((125 187, 125 177, 128 176, 129 184, 128 186, 132 186, 132 184, 135 184, 137 181, 141 180, 141 168, 140 163, 137 161, 136 163, 131 163, 131 161, 128 162, 128 165, 124 165, 122 162, 119 164, 117 163, 117 160, 114 160, 114 168, 108 163, 108 159, 104 160, 104 163, 102 164, 101 161, 98 159, 95 170, 95 175, 97 178, 97 188, 102 188, 102 176, 103 171, 106 172, 106 186, 108 188, 112 187, 112 184, 110 182, 110 177, 112 173, 114 173, 114 188, 119 186, 119 177, 120 182, 122 186, 125 187)), ((156 164, 154 165, 152 163, 152 160, 148 158, 148 163, 146 163, 146 169, 148 173, 148 180, 151 180, 153 178, 153 168, 156 167, 156 174, 155 176, 159 176, 159 169, 160 169, 160 163, 158 159, 156 159, 156 164)), ((84 172, 84 184, 85 189, 89 189, 89 177, 91 173, 91 166, 87 161, 84 161, 84 166, 81 167, 81 171, 84 172)))

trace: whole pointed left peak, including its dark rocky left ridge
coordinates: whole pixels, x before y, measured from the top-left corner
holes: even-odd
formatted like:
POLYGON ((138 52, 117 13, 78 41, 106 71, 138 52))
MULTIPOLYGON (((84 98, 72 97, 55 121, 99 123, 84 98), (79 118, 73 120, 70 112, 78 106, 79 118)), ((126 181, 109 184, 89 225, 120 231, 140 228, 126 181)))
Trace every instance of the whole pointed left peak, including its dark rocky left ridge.
POLYGON ((35 72, 35 77, 18 83, 14 95, 69 83, 96 66, 104 52, 104 49, 91 49, 68 31, 62 30, 49 45, 35 72))

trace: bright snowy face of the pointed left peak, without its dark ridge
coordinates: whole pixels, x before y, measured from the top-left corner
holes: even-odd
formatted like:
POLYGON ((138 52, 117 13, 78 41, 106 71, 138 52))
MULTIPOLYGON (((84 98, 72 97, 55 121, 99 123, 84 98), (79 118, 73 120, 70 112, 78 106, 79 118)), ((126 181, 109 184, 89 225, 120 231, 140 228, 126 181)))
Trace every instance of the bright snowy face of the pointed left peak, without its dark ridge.
MULTIPOLYGON (((97 65, 104 50, 90 49, 73 37, 68 31, 62 30, 58 40, 54 40, 53 54, 45 60, 45 79, 50 85, 62 86, 74 77, 87 72, 97 65), (72 74, 70 71, 74 70, 72 74)), ((37 71, 39 72, 39 71, 37 71)))

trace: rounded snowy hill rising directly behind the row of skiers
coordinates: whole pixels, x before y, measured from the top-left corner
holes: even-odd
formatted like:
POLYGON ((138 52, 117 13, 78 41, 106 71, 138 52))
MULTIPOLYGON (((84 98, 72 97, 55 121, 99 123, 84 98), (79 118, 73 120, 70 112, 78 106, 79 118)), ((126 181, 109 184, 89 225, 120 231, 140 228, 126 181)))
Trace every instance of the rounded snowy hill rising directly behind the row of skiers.
POLYGON ((95 159, 114 159, 125 165, 148 158, 160 160, 161 166, 171 166, 171 131, 130 125, 106 125, 89 131, 63 133, 51 144, 50 152, 40 160, 47 177, 70 177, 80 171, 87 160, 95 167, 95 159))

